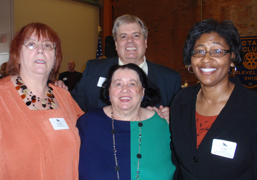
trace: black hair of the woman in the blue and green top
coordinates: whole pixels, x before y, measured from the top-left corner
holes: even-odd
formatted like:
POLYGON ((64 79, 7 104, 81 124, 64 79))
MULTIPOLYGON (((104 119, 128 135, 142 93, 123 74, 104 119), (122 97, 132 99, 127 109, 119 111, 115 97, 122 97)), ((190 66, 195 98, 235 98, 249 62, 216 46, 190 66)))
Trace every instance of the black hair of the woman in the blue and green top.
POLYGON ((106 103, 107 105, 111 105, 111 102, 109 101, 109 87, 112 83, 113 74, 118 69, 131 69, 134 70, 138 75, 140 82, 144 88, 144 100, 141 102, 140 107, 146 108, 148 106, 155 106, 160 102, 160 91, 158 87, 150 81, 150 79, 147 77, 147 75, 144 73, 144 71, 139 68, 135 64, 127 64, 123 66, 114 65, 109 69, 109 72, 107 74, 106 80, 103 83, 103 88, 101 88, 100 93, 100 99, 102 102, 106 103))

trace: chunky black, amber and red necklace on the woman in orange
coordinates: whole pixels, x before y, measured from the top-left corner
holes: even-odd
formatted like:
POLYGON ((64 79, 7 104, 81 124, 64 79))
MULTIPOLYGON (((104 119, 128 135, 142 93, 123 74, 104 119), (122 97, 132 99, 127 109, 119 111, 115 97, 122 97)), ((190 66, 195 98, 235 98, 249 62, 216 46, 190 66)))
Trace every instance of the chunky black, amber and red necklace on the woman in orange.
MULTIPOLYGON (((43 108, 46 108, 46 104, 49 105, 49 109, 53 109, 54 107, 56 107, 56 104, 54 104, 53 102, 53 98, 54 98, 54 95, 52 94, 53 92, 53 89, 47 84, 47 87, 48 87, 48 92, 46 92, 46 95, 48 96, 48 98, 40 98, 40 97, 36 97, 28 88, 27 86, 24 84, 24 82, 22 81, 22 78, 20 76, 17 76, 16 78, 16 90, 19 91, 20 89, 22 89, 22 99, 24 99, 25 97, 27 97, 27 100, 28 102, 26 102, 26 105, 27 106, 30 106, 32 105, 34 107, 33 110, 39 110, 38 108, 35 107, 34 103, 36 101, 42 103, 42 107, 43 108), (28 93, 29 92, 29 93, 28 93), (31 98, 29 99, 28 96, 31 98), (47 103, 48 102, 48 103, 47 103)), ((47 110, 49 110, 47 109, 47 110)))

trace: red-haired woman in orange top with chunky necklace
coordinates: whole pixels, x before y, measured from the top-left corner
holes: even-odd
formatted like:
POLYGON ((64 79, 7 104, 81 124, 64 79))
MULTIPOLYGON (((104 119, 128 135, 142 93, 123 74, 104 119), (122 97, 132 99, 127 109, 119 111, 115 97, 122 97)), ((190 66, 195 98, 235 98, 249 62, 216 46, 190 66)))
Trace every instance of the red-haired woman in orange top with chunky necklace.
POLYGON ((62 62, 59 35, 42 23, 18 31, 0 81, 0 179, 78 179, 83 111, 53 85, 62 62))

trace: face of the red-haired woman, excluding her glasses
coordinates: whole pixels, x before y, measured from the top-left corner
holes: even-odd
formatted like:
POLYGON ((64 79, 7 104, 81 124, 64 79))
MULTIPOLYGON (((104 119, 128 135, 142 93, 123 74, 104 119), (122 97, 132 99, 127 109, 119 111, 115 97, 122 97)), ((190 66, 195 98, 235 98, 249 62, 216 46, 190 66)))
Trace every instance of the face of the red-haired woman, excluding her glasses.
MULTIPOLYGON (((47 39, 38 39, 35 33, 30 36, 40 43, 47 39)), ((35 49, 29 49, 24 44, 20 50, 20 74, 44 74, 48 77, 54 66, 55 50, 45 50, 41 44, 35 49)))

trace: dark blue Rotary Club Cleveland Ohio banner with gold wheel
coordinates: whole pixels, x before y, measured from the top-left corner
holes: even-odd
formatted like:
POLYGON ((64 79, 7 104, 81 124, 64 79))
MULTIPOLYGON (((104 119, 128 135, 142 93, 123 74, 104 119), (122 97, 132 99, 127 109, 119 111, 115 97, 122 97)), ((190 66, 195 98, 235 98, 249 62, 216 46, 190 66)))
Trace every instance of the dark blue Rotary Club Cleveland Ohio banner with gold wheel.
POLYGON ((241 37, 245 53, 243 65, 234 73, 250 89, 257 88, 257 36, 241 37))

